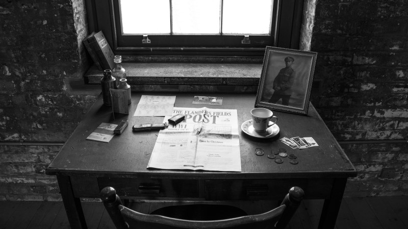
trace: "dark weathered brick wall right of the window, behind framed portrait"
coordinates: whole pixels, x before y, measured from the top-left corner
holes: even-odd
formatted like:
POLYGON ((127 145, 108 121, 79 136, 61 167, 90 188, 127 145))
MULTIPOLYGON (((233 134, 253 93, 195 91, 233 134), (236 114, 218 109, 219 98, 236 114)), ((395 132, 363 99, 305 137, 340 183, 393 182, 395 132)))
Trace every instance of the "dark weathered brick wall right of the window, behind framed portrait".
POLYGON ((341 145, 359 171, 346 195, 408 194, 407 144, 392 142, 408 137, 407 49, 407 1, 317 2, 311 50, 322 93, 312 102, 340 142, 373 142, 341 145), (388 167, 395 173, 380 178, 388 167))

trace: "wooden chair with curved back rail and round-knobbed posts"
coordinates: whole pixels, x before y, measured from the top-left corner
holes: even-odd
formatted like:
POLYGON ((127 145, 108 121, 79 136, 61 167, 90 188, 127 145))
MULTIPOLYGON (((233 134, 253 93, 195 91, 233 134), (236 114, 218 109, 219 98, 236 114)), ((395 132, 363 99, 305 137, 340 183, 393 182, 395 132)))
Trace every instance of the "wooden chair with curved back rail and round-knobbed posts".
MULTIPOLYGON (((122 205, 116 190, 105 187, 100 192, 113 223, 118 229, 127 228, 285 228, 302 201, 304 192, 292 187, 281 206, 258 215, 246 215, 218 220, 188 220, 162 215, 142 214, 122 205)), ((216 207, 217 205, 215 205, 216 207)), ((169 206, 170 208, 173 206, 169 206)), ((177 207, 177 206, 174 206, 177 207)), ((166 207, 168 208, 168 207, 166 207)), ((168 211, 167 211, 168 212, 168 211)))

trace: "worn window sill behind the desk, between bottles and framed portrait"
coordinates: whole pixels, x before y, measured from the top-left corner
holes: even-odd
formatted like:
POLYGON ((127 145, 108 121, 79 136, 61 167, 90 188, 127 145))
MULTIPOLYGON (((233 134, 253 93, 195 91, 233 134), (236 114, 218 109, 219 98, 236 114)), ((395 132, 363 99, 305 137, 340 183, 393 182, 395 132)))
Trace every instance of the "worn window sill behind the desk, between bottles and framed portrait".
MULTIPOLYGON (((256 92, 262 63, 122 63, 135 91, 256 92)), ((103 72, 92 66, 85 82, 99 84, 103 72)))

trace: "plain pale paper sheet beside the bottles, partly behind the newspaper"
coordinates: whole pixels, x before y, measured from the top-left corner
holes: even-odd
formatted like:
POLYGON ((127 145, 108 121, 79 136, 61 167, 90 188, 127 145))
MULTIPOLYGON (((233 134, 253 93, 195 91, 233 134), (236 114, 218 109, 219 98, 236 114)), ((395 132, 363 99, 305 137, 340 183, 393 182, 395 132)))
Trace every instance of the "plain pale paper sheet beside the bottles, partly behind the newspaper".
POLYGON ((171 116, 175 96, 142 95, 133 116, 171 116))

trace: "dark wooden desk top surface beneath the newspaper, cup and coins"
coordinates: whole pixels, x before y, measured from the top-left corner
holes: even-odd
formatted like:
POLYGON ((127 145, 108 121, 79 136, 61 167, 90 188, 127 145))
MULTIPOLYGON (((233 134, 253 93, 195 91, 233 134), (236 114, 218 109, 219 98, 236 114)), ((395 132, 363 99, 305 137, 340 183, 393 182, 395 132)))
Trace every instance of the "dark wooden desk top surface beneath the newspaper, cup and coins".
MULTIPOLYGON (((203 95, 203 93, 201 93, 203 95)), ((200 95, 201 95, 200 94, 200 95)), ((115 114, 111 107, 103 105, 101 97, 91 107, 85 118, 71 134, 65 145, 46 169, 48 175, 122 176, 150 178, 190 179, 279 179, 279 178, 344 178, 355 177, 356 170, 327 129, 313 105, 307 116, 273 111, 279 118, 280 132, 276 137, 256 139, 241 130, 241 124, 251 119, 254 94, 206 94, 223 97, 222 106, 192 104, 198 94, 187 93, 136 93, 132 92, 129 115, 115 114), (135 124, 161 123, 163 117, 134 117, 141 95, 175 95, 175 107, 203 107, 214 109, 237 109, 242 172, 193 171, 147 169, 151 152, 159 131, 133 132, 135 124), (109 143, 86 140, 100 123, 118 124, 129 119, 129 126, 122 134, 115 135, 109 143), (295 149, 279 141, 282 137, 313 137, 319 147, 295 149), (256 148, 265 150, 263 156, 255 154, 256 148), (285 148, 288 154, 297 156, 298 164, 277 164, 267 157, 269 149, 285 148)))

